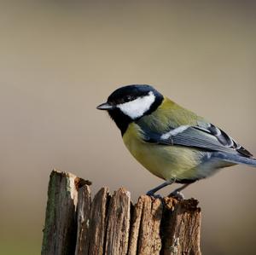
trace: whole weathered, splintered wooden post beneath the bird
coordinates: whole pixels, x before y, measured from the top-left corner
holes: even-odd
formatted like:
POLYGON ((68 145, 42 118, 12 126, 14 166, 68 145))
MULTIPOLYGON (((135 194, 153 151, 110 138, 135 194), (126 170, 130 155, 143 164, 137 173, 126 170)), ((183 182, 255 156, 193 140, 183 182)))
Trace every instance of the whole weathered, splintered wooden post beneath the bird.
POLYGON ((90 182, 52 171, 42 255, 200 255, 198 201, 139 197, 101 188, 91 199, 90 182))

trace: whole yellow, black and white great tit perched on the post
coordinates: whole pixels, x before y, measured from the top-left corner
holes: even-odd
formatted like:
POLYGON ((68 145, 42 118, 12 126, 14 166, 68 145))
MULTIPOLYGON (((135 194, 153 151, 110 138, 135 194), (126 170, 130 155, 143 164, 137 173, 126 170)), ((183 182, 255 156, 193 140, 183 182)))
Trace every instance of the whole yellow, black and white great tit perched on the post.
POLYGON ((108 101, 97 107, 107 110, 119 127, 130 153, 148 171, 165 183, 190 183, 236 164, 256 167, 256 159, 223 130, 195 113, 180 107, 150 85, 127 85, 114 90, 108 101))

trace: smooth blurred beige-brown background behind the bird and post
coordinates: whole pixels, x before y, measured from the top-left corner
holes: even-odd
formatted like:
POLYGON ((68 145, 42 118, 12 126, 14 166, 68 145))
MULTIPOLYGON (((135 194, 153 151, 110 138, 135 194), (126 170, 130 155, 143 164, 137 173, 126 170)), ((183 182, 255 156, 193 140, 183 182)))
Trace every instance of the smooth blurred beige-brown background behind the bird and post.
MULTIPOLYGON (((53 167, 134 201, 161 182, 96 111, 120 85, 154 85, 256 154, 253 1, 0 3, 1 254, 40 253, 53 167)), ((203 254, 256 253, 255 182, 236 166, 186 189, 203 254)))

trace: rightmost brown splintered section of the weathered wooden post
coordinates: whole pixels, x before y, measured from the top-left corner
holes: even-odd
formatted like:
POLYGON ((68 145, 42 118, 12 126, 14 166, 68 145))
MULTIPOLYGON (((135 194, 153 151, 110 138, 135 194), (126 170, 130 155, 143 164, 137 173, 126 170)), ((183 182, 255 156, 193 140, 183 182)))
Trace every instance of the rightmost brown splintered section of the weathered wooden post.
POLYGON ((165 255, 201 255, 201 209, 195 199, 177 201, 165 198, 162 219, 163 249, 165 255))

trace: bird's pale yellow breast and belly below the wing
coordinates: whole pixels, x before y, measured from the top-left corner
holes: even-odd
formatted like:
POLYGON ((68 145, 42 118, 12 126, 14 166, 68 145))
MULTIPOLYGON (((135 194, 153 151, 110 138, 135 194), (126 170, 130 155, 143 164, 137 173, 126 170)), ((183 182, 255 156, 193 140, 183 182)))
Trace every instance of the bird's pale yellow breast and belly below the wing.
POLYGON ((165 180, 195 177, 198 157, 191 148, 143 142, 140 127, 131 123, 123 136, 126 148, 148 171, 165 180))

